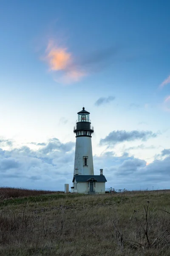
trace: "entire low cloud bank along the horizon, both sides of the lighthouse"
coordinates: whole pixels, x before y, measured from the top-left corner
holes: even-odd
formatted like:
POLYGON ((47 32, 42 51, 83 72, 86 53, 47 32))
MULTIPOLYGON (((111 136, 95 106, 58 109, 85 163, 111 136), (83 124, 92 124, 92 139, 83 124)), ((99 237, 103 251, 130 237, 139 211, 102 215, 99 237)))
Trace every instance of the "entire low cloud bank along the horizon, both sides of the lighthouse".
MULTIPOLYGON (((64 190, 72 184, 75 143, 62 143, 57 138, 44 142, 45 146, 31 150, 28 146, 0 149, 0 186, 32 189, 64 190)), ((164 189, 169 188, 170 149, 161 151, 162 158, 147 165, 145 160, 124 152, 121 156, 105 151, 94 155, 94 172, 103 169, 108 182, 106 188, 164 189)))

